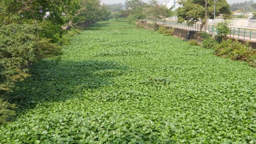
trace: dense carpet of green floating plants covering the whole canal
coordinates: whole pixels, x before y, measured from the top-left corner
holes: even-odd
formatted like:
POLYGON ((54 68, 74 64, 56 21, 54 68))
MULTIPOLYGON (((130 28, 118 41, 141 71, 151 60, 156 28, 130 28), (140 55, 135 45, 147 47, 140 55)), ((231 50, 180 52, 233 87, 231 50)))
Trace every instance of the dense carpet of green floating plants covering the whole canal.
POLYGON ((9 95, 0 143, 255 143, 256 69, 175 37, 105 21, 9 95))

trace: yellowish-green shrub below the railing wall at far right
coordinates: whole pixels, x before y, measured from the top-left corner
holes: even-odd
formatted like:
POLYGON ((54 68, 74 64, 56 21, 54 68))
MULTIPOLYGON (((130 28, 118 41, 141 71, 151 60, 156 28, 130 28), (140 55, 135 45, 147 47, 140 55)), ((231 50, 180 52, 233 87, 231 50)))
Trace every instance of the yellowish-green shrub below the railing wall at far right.
POLYGON ((256 50, 251 49, 249 43, 243 44, 238 42, 238 40, 223 40, 216 46, 215 51, 216 55, 227 57, 232 60, 246 61, 251 65, 255 65, 256 62, 256 50))

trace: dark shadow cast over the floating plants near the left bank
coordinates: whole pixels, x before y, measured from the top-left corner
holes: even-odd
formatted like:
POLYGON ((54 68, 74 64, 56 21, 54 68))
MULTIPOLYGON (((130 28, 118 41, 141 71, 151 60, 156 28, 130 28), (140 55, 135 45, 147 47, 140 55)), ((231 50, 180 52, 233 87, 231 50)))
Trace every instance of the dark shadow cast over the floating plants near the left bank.
POLYGON ((113 84, 111 78, 126 69, 116 62, 42 60, 31 68, 31 77, 16 84, 9 101, 17 105, 18 113, 24 113, 43 102, 78 98, 87 90, 113 84))

